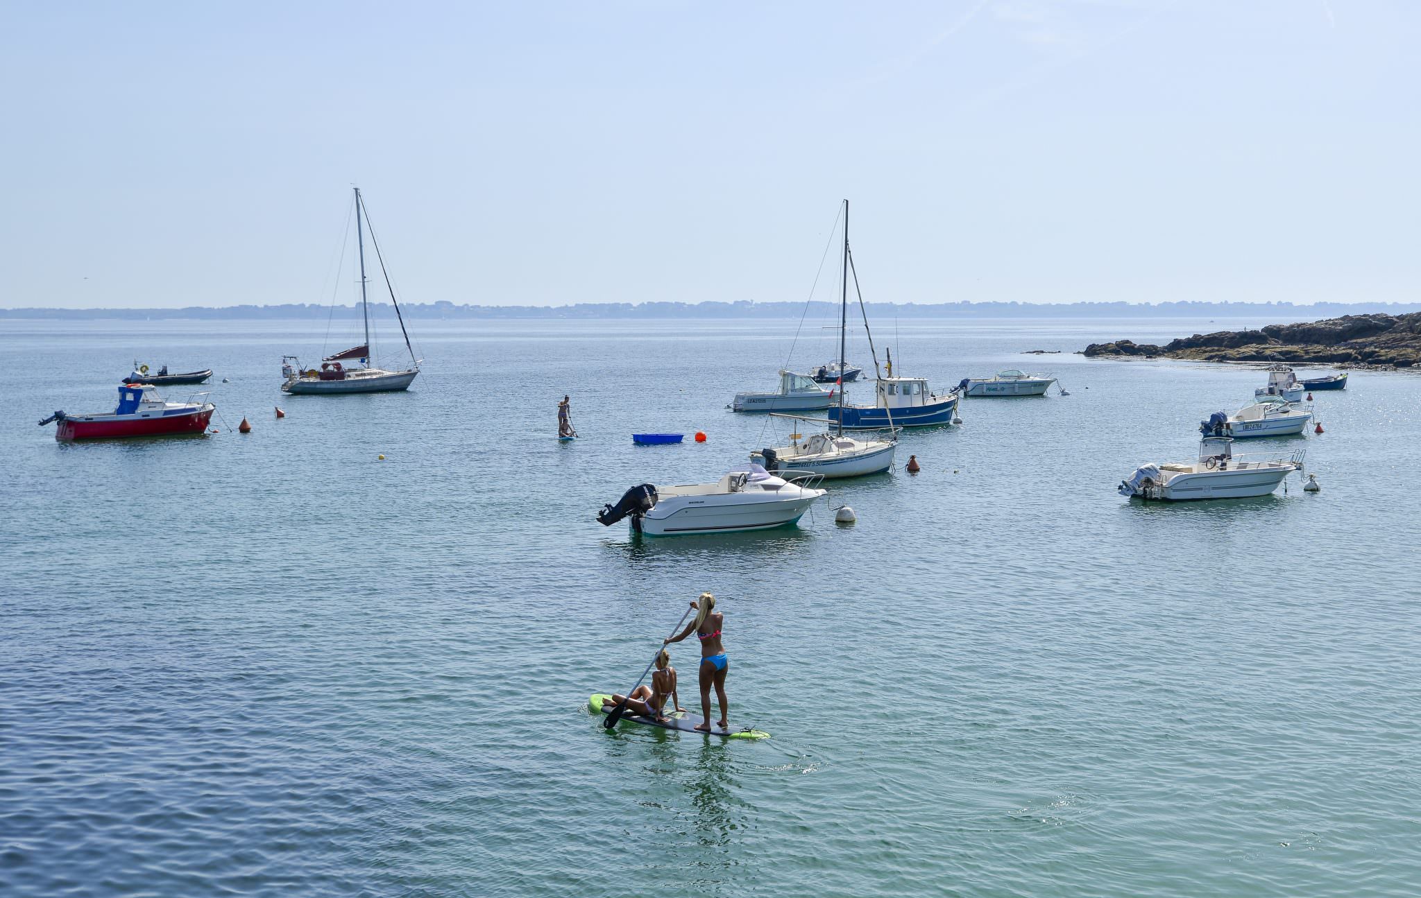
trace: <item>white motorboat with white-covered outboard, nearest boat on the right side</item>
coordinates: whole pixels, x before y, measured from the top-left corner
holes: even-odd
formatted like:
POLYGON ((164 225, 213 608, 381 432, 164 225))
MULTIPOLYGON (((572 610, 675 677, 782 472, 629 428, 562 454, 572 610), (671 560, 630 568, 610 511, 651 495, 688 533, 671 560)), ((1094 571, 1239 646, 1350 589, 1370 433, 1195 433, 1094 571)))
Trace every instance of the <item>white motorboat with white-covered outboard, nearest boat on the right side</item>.
POLYGON ((1165 502, 1268 496, 1287 475, 1303 469, 1304 452, 1299 449, 1286 459, 1259 458, 1266 452, 1235 456, 1232 439, 1205 436, 1196 462, 1141 465, 1117 489, 1121 496, 1165 502))

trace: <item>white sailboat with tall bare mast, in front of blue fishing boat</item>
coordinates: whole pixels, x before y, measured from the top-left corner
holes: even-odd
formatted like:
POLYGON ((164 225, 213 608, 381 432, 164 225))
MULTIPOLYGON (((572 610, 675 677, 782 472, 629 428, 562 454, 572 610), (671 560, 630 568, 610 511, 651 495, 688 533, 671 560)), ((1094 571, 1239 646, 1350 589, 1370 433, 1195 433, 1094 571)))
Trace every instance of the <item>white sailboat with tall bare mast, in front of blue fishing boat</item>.
MULTIPOLYGON (((848 340, 848 200, 844 200, 844 276, 838 311, 838 371, 844 371, 845 344, 848 340)), ((864 320, 867 328, 868 321, 864 320)), ((868 335, 872 345, 872 334, 868 335)), ((877 357, 874 364, 877 365, 877 357)), ((814 433, 809 439, 794 438, 789 446, 774 446, 750 453, 750 460, 763 465, 766 470, 783 470, 787 477, 818 475, 823 477, 858 477, 877 475, 892 467, 897 439, 855 439, 844 433, 844 386, 838 385, 838 415, 834 431, 814 433)), ((890 433, 892 412, 888 412, 890 433)))

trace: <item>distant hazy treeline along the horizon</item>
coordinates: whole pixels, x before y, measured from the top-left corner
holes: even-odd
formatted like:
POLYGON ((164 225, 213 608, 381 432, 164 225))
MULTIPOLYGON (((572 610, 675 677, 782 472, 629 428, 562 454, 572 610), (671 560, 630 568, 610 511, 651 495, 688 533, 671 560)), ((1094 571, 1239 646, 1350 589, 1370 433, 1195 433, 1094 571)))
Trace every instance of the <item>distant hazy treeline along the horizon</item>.
MULTIPOLYGON (((388 303, 371 303, 381 314, 389 314, 388 303)), ((897 317, 1249 317, 1266 315, 1269 321, 1283 321, 1289 315, 1324 318, 1367 313, 1404 314, 1421 311, 1421 303, 868 303, 880 315, 897 317)), ((351 307, 345 307, 351 308, 351 307)), ((455 305, 453 303, 412 303, 401 305, 411 320, 479 320, 479 318, 797 318, 804 314, 803 303, 577 303, 573 305, 455 305)), ((810 311, 830 314, 834 303, 811 303, 810 311)), ((257 318, 325 318, 330 305, 290 303, 284 305, 226 305, 209 308, 0 308, 0 318, 95 318, 136 320, 257 320, 257 318)))

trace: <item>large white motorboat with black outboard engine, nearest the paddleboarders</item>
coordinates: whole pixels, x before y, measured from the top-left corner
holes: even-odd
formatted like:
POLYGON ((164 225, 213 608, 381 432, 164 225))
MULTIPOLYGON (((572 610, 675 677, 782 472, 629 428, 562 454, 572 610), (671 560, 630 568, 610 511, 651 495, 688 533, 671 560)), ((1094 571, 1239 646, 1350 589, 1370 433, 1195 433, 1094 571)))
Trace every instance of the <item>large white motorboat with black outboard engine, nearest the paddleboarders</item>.
POLYGON ((603 506, 597 520, 610 527, 630 517, 632 531, 647 536, 769 530, 796 523, 826 494, 816 489, 818 480, 790 483, 760 465, 746 465, 716 483, 634 486, 615 506, 603 506))

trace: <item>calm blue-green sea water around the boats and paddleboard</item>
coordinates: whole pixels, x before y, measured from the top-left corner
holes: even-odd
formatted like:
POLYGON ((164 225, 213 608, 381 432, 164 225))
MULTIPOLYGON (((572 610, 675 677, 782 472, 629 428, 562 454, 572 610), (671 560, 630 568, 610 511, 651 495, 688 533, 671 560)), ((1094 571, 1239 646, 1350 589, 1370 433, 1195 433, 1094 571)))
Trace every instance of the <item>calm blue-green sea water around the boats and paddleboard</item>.
POLYGON ((593 520, 774 445, 725 406, 794 328, 415 321, 415 389, 331 399, 277 392, 318 325, 6 321, 0 892, 1415 894, 1421 379, 1354 374, 1323 436, 1248 446, 1306 446, 1319 494, 1145 506, 1120 479, 1265 377, 1071 351, 1206 321, 885 323, 935 385, 1070 395, 968 401, 904 436, 921 475, 833 483, 794 530, 593 520), (227 378, 222 433, 34 426, 135 357, 227 378), (730 716, 773 739, 603 730, 588 693, 702 590, 730 716))

